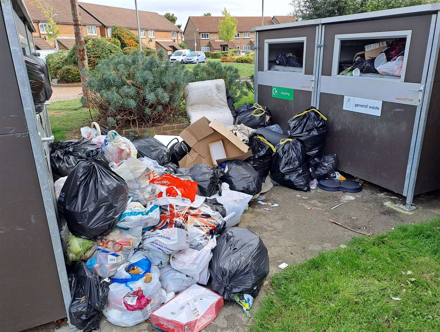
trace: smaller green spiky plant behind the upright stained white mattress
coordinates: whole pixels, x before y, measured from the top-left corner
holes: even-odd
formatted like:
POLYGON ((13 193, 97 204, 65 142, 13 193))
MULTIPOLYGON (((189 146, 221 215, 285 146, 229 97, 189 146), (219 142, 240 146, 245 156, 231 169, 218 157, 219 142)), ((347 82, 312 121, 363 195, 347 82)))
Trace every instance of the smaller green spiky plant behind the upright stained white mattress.
POLYGON ((226 91, 229 92, 234 103, 249 94, 246 89, 246 82, 238 79, 240 78, 240 74, 238 69, 234 66, 208 61, 203 65, 200 63, 196 64, 192 74, 193 82, 223 79, 226 91))

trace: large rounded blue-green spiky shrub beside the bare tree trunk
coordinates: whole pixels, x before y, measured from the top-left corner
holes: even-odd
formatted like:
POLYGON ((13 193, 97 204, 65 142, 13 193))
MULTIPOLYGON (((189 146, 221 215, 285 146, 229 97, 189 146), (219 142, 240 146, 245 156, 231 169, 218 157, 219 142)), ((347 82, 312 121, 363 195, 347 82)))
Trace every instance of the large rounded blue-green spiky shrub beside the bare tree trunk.
POLYGON ((164 50, 146 56, 111 55, 86 70, 87 90, 97 120, 111 128, 142 128, 163 123, 179 112, 191 73, 168 61, 164 50))

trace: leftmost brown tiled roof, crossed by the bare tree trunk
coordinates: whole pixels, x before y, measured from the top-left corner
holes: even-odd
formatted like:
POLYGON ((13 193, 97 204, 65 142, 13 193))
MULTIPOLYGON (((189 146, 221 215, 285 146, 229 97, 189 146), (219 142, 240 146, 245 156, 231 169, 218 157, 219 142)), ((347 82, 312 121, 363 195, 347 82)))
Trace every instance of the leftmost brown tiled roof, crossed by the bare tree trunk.
MULTIPOLYGON (((32 4, 33 0, 24 0, 27 10, 29 11, 29 15, 34 22, 48 22, 48 19, 41 12, 41 9, 38 9, 37 5, 32 4)), ((54 9, 54 20, 56 23, 68 23, 73 24, 72 19, 72 10, 70 7, 69 0, 47 0, 47 3, 54 9)), ((100 26, 95 18, 85 12, 82 8, 80 8, 81 15, 81 23, 85 25, 93 25, 100 26)))

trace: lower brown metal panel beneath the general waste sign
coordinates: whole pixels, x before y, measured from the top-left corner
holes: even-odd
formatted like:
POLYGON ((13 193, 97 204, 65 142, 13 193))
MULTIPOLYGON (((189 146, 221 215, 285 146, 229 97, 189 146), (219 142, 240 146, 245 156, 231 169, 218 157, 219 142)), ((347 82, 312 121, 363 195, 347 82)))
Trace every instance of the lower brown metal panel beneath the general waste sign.
POLYGON ((327 117, 326 153, 338 169, 403 194, 416 106, 383 102, 381 116, 345 111, 344 96, 321 93, 327 117))

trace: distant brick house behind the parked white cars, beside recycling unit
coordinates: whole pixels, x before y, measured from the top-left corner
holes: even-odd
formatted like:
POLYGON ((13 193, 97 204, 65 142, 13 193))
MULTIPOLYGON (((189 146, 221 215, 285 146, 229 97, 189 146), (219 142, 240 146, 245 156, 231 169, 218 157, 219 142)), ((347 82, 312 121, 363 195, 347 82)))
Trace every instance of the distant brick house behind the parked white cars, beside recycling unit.
MULTIPOLYGON (((219 38, 219 21, 223 16, 190 16, 183 31, 185 44, 191 50, 195 50, 195 42, 197 50, 203 52, 220 52, 226 51, 228 43, 219 38), (194 34, 195 33, 195 34, 194 34)), ((253 50, 255 44, 255 32, 252 28, 261 26, 261 16, 235 16, 237 19, 237 35, 229 42, 230 48, 240 50, 253 50)), ((264 16, 264 25, 278 24, 284 19, 285 22, 293 22, 295 18, 289 16, 264 16), (275 19, 274 18, 279 18, 275 19), (290 19, 290 21, 288 21, 290 19)), ((284 22, 283 22, 284 23, 284 22)))

